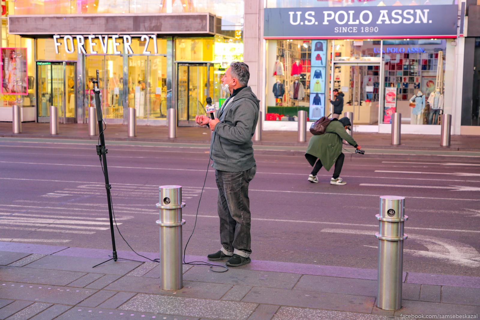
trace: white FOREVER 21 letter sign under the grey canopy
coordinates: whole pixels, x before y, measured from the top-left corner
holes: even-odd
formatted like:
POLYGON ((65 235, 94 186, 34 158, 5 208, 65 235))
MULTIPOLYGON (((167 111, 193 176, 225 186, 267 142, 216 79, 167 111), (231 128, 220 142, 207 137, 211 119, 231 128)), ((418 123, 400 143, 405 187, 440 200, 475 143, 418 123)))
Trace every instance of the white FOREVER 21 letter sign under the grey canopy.
MULTIPOLYGON (((120 54, 121 51, 119 50, 119 46, 122 46, 120 42, 118 42, 118 39, 123 40, 123 52, 133 54, 132 47, 132 36, 129 35, 111 35, 111 36, 102 36, 102 35, 89 35, 89 36, 63 36, 63 41, 60 40, 59 35, 53 36, 53 44, 55 45, 55 52, 58 54, 59 53, 59 47, 62 45, 65 48, 65 51, 67 53, 73 53, 75 52, 75 49, 79 53, 83 54, 97 54, 97 53, 103 53, 107 54, 107 52, 113 52, 114 54, 120 54), (76 44, 73 41, 73 38, 75 38, 76 44), (88 43, 87 40, 88 39, 88 43), (96 43, 96 39, 99 41, 99 46, 96 43), (108 39, 111 39, 111 41, 108 41, 108 39), (108 46, 112 46, 109 48, 108 46), (110 50, 109 50, 110 49, 110 50), (99 52, 101 50, 101 52, 99 52)), ((142 54, 157 54, 158 53, 158 48, 156 45, 156 35, 142 35, 140 37, 141 41, 145 42, 144 45, 144 50, 142 54), (154 52, 150 52, 147 50, 148 44, 150 41, 153 42, 153 49, 154 52)), ((140 52, 135 52, 135 53, 140 53, 140 52)))

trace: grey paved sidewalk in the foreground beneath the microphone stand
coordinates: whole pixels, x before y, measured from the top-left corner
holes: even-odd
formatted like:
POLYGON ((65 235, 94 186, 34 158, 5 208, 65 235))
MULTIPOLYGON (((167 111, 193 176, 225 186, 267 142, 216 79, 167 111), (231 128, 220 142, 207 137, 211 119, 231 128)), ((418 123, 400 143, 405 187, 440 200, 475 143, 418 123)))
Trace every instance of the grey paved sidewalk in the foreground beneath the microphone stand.
MULTIPOLYGON (((109 254, 0 242, 0 319, 383 320, 480 314, 480 277, 406 271, 403 308, 394 312, 375 307, 376 270, 252 256, 252 263, 225 273, 184 264, 184 287, 170 292, 159 288, 156 262, 118 260, 92 268, 109 254)), ((118 255, 146 261, 131 251, 118 255)))

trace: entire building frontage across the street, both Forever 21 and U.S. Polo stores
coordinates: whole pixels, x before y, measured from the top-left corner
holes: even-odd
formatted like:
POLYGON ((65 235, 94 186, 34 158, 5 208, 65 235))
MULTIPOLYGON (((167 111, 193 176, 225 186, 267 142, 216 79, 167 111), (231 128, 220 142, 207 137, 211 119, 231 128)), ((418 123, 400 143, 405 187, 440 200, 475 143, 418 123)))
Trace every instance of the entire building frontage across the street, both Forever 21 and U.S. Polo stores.
MULTIPOLYGON (((480 1, 479 1, 480 2, 480 1)), ((264 130, 297 130, 333 112, 334 89, 355 131, 479 134, 477 0, 5 1, 0 120, 85 123, 99 71, 102 112, 126 124, 194 125, 206 96, 222 102, 231 61, 250 66, 264 130)))

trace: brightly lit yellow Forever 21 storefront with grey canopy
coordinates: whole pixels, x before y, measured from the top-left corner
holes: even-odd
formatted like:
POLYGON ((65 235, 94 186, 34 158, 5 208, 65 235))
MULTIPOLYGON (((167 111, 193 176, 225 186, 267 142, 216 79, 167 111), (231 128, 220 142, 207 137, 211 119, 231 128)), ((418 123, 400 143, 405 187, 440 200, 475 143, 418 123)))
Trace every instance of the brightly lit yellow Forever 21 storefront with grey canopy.
MULTIPOLYGON (((243 1, 5 1, 0 110, 13 104, 24 121, 85 123, 95 107, 109 123, 178 125, 204 113, 205 98, 224 98, 220 79, 229 61, 243 60, 243 1)), ((11 117, 11 116, 10 116, 11 117)))

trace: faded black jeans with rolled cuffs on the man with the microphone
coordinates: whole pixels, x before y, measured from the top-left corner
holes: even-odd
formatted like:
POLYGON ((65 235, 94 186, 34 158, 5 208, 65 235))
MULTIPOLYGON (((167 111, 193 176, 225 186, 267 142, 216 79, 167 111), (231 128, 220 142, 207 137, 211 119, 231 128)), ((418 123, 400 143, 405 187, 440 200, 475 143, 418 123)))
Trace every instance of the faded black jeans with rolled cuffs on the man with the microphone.
POLYGON ((256 165, 242 172, 215 171, 220 242, 226 254, 235 253, 247 258, 252 253, 248 185, 256 172, 256 165))

